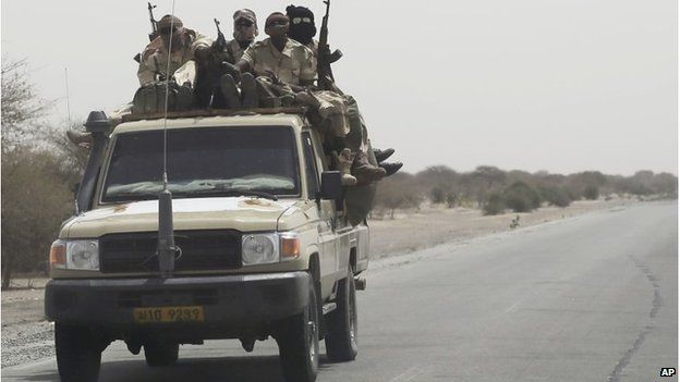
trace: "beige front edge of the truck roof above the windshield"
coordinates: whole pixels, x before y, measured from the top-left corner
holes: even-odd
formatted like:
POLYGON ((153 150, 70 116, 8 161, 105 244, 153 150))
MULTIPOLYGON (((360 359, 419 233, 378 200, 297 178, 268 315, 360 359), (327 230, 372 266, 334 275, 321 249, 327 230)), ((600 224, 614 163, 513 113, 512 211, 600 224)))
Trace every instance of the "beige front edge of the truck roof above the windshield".
MULTIPOLYGON (((251 110, 192 110, 169 112, 167 128, 218 127, 218 126, 293 126, 302 128, 302 108, 269 108, 251 110)), ((160 114, 131 114, 123 118, 113 134, 159 130, 166 125, 160 114)))

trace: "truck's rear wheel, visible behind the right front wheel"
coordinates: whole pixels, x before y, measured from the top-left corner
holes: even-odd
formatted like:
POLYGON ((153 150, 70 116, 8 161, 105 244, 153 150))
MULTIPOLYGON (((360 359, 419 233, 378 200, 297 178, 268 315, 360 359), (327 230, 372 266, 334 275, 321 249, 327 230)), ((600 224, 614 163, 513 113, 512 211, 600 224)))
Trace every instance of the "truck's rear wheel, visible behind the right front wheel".
POLYGON ((335 362, 356 358, 356 288, 352 269, 338 283, 336 310, 326 315, 326 355, 335 362))

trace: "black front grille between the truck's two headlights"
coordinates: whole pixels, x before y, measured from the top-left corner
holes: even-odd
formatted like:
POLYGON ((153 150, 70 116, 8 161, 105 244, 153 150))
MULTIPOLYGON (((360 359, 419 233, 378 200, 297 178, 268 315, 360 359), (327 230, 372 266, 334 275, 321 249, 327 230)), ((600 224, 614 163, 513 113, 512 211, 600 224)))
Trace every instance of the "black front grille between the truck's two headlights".
MULTIPOLYGON (((231 230, 175 231, 182 256, 175 271, 241 268, 241 233, 231 230)), ((102 273, 158 272, 158 232, 109 234, 99 238, 102 273)))

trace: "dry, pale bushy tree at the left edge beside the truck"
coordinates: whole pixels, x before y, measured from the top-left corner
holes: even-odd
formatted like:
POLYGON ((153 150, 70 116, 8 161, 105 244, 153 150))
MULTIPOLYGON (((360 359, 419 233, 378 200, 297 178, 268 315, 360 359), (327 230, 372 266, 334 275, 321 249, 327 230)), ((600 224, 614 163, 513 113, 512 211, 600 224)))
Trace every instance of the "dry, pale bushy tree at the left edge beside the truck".
POLYGON ((75 152, 63 130, 41 121, 50 107, 37 97, 25 61, 2 63, 2 288, 12 273, 47 259, 60 223, 73 211, 72 184, 85 152, 75 152))

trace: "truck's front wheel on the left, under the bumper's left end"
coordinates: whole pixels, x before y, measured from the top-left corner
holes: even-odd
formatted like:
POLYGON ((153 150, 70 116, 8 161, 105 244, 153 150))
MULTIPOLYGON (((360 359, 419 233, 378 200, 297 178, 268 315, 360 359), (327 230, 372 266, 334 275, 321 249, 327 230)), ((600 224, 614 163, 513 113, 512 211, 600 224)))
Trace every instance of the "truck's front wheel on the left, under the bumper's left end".
POLYGON ((54 347, 61 381, 97 381, 102 349, 88 328, 54 324, 54 347))

